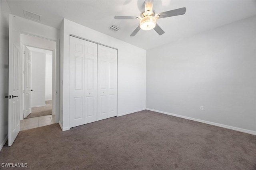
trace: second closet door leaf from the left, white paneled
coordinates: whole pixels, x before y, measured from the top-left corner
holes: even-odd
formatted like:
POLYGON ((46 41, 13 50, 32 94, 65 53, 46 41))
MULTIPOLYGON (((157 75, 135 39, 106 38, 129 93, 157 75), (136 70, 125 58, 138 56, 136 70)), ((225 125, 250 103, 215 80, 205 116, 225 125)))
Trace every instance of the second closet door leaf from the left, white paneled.
POLYGON ((97 121, 97 44, 85 41, 85 118, 97 121))

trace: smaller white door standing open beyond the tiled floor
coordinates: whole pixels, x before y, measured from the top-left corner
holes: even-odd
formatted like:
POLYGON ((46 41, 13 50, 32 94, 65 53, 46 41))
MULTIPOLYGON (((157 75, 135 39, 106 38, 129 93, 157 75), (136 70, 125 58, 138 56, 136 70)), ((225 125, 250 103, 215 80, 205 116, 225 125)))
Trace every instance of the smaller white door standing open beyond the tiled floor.
POLYGON ((24 47, 24 117, 31 113, 31 51, 24 47))

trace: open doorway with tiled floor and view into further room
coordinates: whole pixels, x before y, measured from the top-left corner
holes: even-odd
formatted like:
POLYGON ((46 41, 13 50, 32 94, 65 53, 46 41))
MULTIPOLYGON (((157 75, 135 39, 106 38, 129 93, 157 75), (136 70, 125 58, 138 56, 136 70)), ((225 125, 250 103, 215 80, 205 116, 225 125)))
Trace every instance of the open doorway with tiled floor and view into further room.
MULTIPOLYGON (((21 35, 24 51, 21 131, 56 123, 55 49, 47 48, 52 43, 48 41, 50 40, 21 35)), ((55 42, 52 47, 56 47, 55 42)))

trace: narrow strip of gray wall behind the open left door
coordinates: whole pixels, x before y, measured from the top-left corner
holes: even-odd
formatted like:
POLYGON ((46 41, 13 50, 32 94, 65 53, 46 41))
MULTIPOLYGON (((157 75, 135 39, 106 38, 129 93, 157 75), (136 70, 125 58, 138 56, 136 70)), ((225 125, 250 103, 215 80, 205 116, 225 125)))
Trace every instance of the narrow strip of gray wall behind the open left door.
POLYGON ((8 65, 9 65, 9 14, 6 1, 1 3, 1 47, 0 47, 0 148, 8 135, 8 65))

